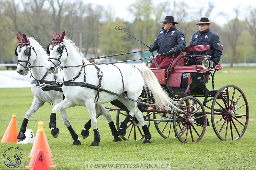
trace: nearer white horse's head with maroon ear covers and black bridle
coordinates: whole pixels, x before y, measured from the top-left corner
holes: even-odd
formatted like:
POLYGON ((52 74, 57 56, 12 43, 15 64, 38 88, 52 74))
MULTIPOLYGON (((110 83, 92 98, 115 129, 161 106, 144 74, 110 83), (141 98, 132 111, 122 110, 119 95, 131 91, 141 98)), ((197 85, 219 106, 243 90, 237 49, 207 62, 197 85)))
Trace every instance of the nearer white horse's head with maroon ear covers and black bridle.
POLYGON ((53 41, 47 46, 47 53, 50 54, 49 60, 46 66, 48 73, 58 73, 58 68, 61 66, 61 62, 67 58, 67 48, 64 45, 65 31, 61 35, 53 33, 53 41), (64 50, 65 48, 65 50, 64 50), (64 52, 66 51, 66 52, 64 52), (64 52, 64 53, 63 53, 64 52))

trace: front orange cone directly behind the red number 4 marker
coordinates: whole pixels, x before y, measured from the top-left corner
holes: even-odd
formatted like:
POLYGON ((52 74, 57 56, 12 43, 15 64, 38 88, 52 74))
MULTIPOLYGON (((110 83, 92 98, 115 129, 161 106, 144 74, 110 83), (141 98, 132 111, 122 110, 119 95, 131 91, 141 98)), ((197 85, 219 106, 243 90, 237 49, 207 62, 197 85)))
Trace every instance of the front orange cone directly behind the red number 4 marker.
MULTIPOLYGON (((50 155, 50 152, 49 152, 49 145, 48 145, 48 141, 45 137, 45 135, 43 134, 44 130, 43 129, 39 129, 38 130, 39 134, 38 134, 38 139, 37 139, 37 143, 35 143, 35 150, 42 150, 43 153, 45 153, 45 160, 46 160, 46 164, 47 164, 47 167, 48 168, 56 168, 57 166, 56 165, 53 165, 53 160, 51 160, 51 155, 50 155)), ((35 157, 36 157, 36 154, 33 154, 31 155, 31 159, 30 159, 30 162, 29 162, 29 165, 26 166, 26 168, 31 168, 33 163, 34 163, 34 160, 35 160, 35 157)))

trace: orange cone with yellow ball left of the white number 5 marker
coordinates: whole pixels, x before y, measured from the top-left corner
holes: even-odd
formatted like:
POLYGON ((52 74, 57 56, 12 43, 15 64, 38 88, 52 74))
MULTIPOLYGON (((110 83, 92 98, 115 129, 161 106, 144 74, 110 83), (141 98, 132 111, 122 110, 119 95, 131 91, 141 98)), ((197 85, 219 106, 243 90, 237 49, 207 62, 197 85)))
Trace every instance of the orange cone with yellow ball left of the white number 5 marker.
POLYGON ((3 138, 1 140, 1 143, 17 143, 18 139, 18 129, 17 129, 17 123, 16 123, 16 115, 13 114, 11 119, 11 122, 9 126, 7 127, 5 134, 3 135, 3 138))

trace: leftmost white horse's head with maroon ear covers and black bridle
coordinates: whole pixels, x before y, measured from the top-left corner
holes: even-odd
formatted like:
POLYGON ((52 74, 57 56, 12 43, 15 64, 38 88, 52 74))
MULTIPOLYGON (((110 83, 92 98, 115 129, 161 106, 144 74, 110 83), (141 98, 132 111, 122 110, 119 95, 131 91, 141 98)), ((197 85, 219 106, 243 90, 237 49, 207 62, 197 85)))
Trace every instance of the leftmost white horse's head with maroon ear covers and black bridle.
POLYGON ((18 56, 16 71, 20 75, 25 76, 29 73, 29 66, 31 66, 31 64, 37 57, 37 53, 35 52, 35 49, 31 46, 30 41, 25 34, 23 34, 22 38, 18 34, 16 35, 19 41, 19 44, 15 49, 15 55, 18 56))

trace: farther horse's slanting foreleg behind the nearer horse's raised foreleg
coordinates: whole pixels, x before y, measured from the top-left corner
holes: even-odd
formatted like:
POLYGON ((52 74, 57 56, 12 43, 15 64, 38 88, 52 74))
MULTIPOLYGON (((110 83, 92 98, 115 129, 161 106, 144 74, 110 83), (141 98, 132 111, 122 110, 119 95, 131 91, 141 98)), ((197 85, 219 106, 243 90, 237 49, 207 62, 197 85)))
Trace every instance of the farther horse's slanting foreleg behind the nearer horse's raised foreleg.
POLYGON ((59 113, 61 114, 64 125, 69 130, 72 139, 74 140, 73 145, 81 145, 81 142, 78 140, 78 135, 75 133, 74 129, 70 125, 69 118, 67 117, 67 113, 65 109, 60 109, 59 113))

